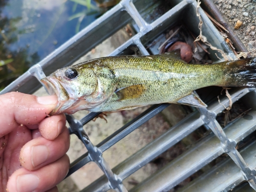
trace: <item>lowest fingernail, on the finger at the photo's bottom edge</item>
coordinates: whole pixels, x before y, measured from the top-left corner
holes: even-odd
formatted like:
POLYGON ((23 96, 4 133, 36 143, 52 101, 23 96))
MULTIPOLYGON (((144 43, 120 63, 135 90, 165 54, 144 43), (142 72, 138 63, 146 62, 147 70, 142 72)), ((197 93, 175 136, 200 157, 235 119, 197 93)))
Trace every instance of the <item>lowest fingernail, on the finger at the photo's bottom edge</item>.
POLYGON ((19 175, 16 181, 18 192, 34 191, 39 185, 39 178, 33 174, 19 175))

